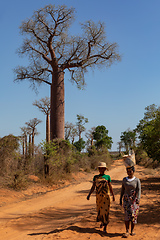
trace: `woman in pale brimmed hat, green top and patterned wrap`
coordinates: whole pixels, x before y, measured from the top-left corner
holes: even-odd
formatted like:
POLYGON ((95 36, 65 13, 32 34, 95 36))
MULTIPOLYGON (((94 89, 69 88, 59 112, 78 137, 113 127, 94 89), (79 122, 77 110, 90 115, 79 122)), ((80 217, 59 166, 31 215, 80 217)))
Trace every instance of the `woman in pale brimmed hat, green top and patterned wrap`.
POLYGON ((106 169, 106 163, 101 162, 98 166, 99 174, 94 176, 93 185, 87 196, 87 200, 89 200, 90 195, 96 188, 97 222, 101 222, 104 232, 107 231, 106 228, 109 223, 110 193, 113 196, 113 201, 115 201, 111 178, 105 174, 106 169))

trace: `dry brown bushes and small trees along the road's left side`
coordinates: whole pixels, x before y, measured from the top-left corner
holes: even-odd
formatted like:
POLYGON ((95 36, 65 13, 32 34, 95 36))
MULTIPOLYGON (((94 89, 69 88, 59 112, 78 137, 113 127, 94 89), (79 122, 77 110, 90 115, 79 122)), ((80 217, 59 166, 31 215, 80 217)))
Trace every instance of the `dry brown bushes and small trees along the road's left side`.
MULTIPOLYGON (((74 126, 75 130, 81 129, 81 134, 85 131, 83 120, 83 116, 77 115, 77 124, 74 126), (82 119, 81 123, 79 119, 82 119)), ((50 142, 45 140, 39 146, 33 144, 33 137, 28 132, 20 137, 8 135, 1 138, 0 183, 19 190, 31 184, 30 176, 38 177, 41 184, 57 184, 64 179, 70 179, 72 173, 94 170, 100 161, 106 162, 109 167, 112 158, 108 146, 111 148, 112 138, 108 136, 105 126, 94 128, 93 134, 90 134, 90 137, 93 137, 92 141, 91 139, 89 141, 88 136, 85 142, 80 137, 79 131, 77 134, 79 140, 72 141, 73 143, 70 142, 69 139, 72 138, 68 134, 66 140, 56 139, 50 142), (98 132, 99 137, 92 136, 98 132), (25 144, 24 140, 27 140, 25 144), (85 146, 85 151, 83 146, 85 146)))

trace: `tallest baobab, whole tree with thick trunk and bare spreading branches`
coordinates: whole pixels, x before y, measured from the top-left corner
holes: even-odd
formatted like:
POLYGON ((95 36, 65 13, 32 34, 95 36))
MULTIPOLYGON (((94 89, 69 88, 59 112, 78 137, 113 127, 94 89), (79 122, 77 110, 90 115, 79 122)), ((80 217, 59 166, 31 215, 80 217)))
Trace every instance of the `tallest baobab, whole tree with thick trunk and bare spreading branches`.
POLYGON ((120 60, 117 44, 106 40, 103 23, 87 21, 81 24, 81 36, 69 34, 74 12, 74 8, 64 5, 47 5, 20 26, 24 41, 18 53, 27 55, 30 64, 14 69, 15 81, 29 80, 33 87, 41 83, 51 86, 51 140, 64 138, 65 70, 69 70, 71 80, 82 88, 88 69, 108 67, 120 60))

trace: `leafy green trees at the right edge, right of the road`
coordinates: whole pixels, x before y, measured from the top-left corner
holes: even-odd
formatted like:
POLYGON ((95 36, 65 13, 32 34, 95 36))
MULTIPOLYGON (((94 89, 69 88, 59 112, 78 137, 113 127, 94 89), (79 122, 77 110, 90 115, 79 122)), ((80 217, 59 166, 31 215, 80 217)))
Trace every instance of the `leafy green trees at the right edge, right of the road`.
POLYGON ((144 150, 149 158, 160 162, 160 106, 147 106, 136 128, 121 133, 118 148, 127 153, 132 148, 144 150))

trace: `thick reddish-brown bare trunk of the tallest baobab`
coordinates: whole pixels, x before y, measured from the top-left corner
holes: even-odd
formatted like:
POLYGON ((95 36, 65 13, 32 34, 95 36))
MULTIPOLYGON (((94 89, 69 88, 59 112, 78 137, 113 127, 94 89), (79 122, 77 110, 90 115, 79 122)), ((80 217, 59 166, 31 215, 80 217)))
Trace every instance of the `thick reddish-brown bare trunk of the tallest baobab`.
POLYGON ((51 85, 51 140, 64 139, 64 72, 55 72, 51 85))

